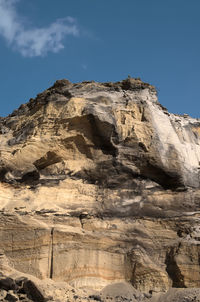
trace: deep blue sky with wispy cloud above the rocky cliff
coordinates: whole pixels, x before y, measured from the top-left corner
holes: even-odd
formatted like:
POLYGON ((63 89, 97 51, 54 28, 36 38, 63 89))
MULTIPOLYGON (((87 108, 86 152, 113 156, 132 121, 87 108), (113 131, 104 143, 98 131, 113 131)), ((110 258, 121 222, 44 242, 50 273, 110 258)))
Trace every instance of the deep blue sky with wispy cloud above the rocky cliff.
POLYGON ((200 118, 199 0, 0 0, 0 116, 57 79, 155 85, 200 118))

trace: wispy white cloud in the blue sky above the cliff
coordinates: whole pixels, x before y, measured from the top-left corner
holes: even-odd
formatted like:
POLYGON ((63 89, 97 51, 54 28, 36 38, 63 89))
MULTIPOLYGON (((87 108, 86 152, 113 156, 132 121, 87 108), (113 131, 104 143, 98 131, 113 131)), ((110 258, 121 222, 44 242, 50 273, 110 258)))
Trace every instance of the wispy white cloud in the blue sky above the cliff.
POLYGON ((26 29, 17 14, 20 0, 0 0, 0 35, 8 45, 25 57, 44 56, 47 52, 59 52, 64 48, 67 35, 77 36, 79 29, 72 17, 58 19, 48 27, 26 29))

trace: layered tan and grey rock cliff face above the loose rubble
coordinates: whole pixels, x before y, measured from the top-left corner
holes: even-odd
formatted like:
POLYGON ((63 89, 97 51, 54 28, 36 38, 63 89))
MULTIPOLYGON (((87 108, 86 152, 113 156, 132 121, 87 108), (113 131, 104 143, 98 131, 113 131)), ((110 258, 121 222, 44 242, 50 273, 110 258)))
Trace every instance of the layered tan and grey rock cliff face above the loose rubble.
POLYGON ((2 269, 96 290, 199 287, 200 120, 139 79, 60 80, 0 133, 2 269))

